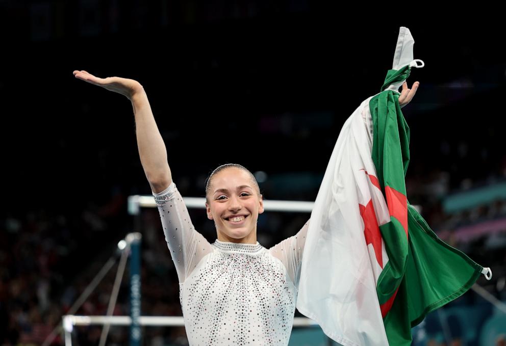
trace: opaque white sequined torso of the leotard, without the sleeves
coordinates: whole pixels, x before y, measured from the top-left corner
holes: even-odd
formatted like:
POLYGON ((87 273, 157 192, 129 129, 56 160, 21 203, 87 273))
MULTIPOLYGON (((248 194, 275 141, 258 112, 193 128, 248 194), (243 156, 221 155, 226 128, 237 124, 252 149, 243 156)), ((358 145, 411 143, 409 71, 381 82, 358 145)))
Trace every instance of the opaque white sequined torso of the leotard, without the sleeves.
POLYGON ((192 345, 287 345, 296 289, 258 242, 213 244, 215 251, 181 285, 192 345))

